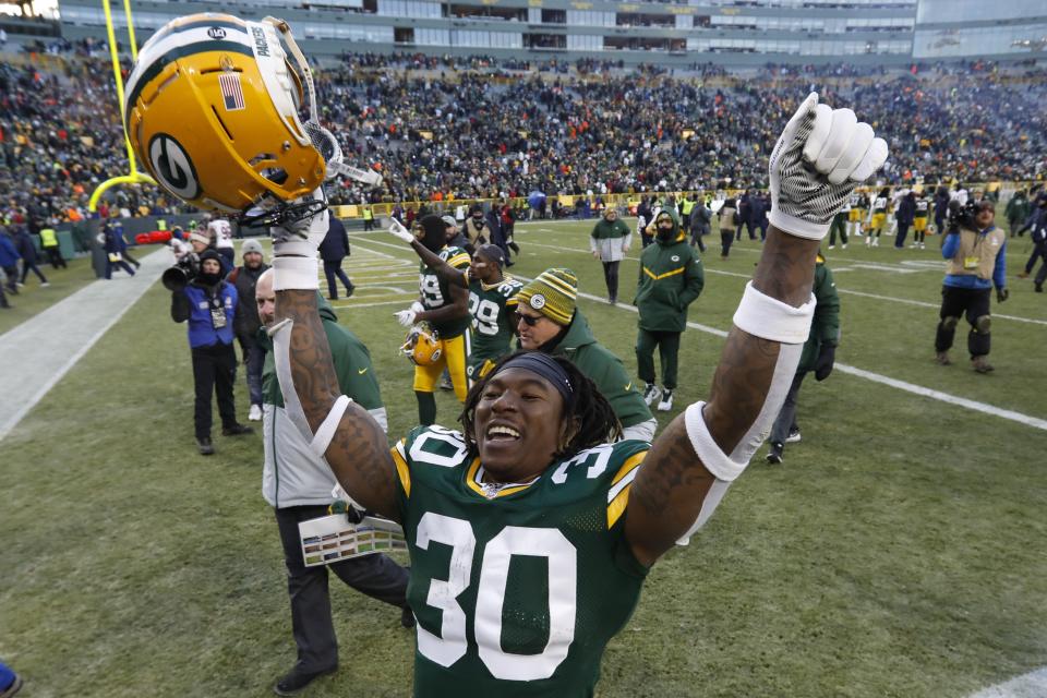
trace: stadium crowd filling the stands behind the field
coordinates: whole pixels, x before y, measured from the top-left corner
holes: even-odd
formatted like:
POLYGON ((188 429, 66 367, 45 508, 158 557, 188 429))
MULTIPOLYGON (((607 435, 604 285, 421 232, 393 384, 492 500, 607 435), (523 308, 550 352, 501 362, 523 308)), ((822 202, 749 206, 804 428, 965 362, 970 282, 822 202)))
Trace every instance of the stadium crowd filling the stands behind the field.
MULTIPOLYGON (((76 220, 98 183, 127 172, 111 72, 94 49, 71 45, 47 70, 0 65, 4 219, 76 220)), ((696 64, 671 77, 612 61, 344 58, 318 81, 321 118, 386 185, 344 182, 334 203, 760 188, 772 125, 810 87, 870 115, 891 143, 889 184, 1047 170, 1047 79, 991 63, 861 75, 780 65, 726 75, 696 64)), ((133 186, 107 193, 103 206, 124 216, 180 210, 133 186)))

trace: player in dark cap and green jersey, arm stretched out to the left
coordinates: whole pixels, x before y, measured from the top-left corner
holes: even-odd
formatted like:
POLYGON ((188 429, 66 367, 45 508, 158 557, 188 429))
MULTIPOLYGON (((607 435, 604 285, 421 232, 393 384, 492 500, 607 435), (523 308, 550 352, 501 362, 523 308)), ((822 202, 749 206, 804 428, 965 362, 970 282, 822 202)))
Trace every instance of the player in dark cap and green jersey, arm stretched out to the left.
POLYGON ((481 245, 472 264, 455 267, 429 251, 417 237, 411 248, 422 263, 447 284, 469 289, 469 315, 472 317, 472 346, 466 374, 470 381, 483 377, 498 359, 512 351, 516 336, 516 294, 524 285, 502 272, 505 253, 494 244, 481 245))

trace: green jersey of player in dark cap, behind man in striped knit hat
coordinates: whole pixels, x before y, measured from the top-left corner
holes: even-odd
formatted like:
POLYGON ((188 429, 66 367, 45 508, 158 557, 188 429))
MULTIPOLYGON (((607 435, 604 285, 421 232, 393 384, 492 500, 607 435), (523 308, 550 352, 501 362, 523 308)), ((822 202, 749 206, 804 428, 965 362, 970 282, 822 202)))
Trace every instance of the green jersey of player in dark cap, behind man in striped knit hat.
POLYGON ((513 313, 516 294, 524 284, 514 278, 488 286, 479 279, 469 282, 469 315, 472 317, 472 347, 466 374, 471 380, 480 377, 485 361, 492 363, 509 353, 509 342, 515 336, 513 313))

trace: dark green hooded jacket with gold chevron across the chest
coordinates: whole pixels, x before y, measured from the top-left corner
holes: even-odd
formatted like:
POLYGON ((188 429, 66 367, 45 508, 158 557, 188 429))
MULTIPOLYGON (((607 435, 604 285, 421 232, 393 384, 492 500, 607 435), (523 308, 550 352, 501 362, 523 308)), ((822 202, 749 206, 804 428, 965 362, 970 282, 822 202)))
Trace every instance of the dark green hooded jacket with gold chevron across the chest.
POLYGON ((640 278, 633 301, 640 312, 640 329, 684 332, 687 306, 706 285, 701 260, 678 226, 676 232, 669 242, 655 236, 654 244, 640 253, 640 278))

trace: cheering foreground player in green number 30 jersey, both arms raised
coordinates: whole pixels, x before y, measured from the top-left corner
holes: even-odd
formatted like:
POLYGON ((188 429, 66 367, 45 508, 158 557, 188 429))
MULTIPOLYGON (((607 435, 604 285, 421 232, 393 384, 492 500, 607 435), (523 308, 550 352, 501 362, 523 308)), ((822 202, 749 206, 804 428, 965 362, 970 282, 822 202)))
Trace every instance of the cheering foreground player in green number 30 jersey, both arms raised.
POLYGON ((321 225, 274 231, 285 401, 350 496, 404 527, 416 696, 593 694, 647 569, 708 520, 763 441, 809 332, 819 242, 886 159, 853 111, 803 100, 771 152, 770 230, 711 397, 652 445, 612 443, 619 426, 593 384, 527 352, 472 387, 461 432, 418 428, 389 453, 338 389, 302 244, 321 225))

